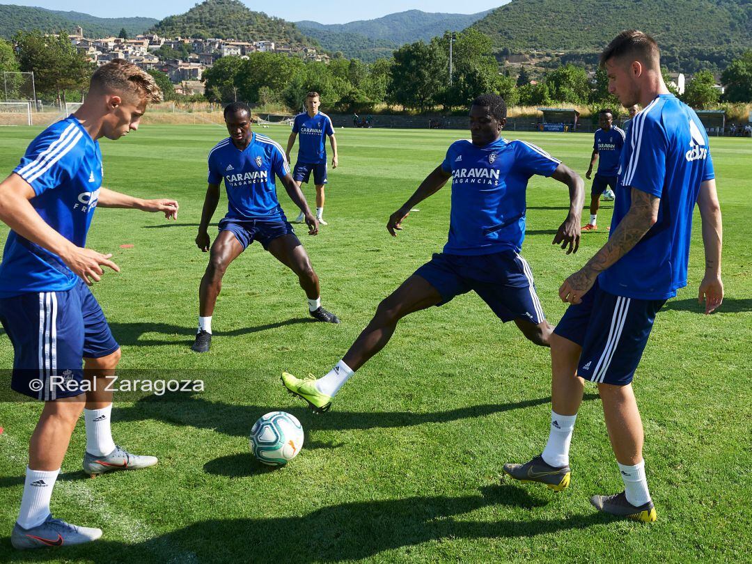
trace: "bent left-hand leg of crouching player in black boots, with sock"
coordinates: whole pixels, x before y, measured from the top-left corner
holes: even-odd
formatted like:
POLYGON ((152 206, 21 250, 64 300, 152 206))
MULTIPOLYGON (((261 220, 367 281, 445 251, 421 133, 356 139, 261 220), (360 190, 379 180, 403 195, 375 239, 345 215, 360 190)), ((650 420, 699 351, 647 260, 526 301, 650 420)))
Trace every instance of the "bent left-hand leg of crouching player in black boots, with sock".
MULTIPOLYGON (((234 229, 234 228, 233 228, 234 229)), ((211 346, 211 317, 214 305, 222 290, 222 277, 230 262, 237 259, 245 250, 236 235, 230 230, 220 232, 211 246, 209 264, 199 287, 199 329, 191 349, 196 353, 208 353, 211 346)))

